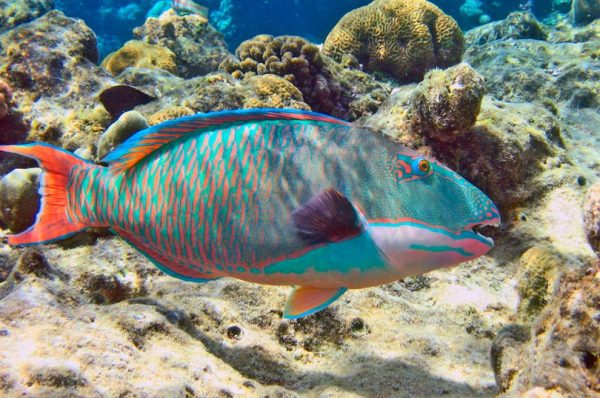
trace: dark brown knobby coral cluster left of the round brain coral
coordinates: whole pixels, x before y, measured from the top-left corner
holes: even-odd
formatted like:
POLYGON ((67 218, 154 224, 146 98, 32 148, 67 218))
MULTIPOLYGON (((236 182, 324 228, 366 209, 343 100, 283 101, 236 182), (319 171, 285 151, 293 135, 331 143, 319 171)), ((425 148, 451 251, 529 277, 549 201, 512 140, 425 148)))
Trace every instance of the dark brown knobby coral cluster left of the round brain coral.
POLYGON ((316 45, 297 36, 258 35, 241 43, 236 55, 219 68, 238 78, 281 76, 300 90, 314 111, 347 117, 342 88, 316 45))

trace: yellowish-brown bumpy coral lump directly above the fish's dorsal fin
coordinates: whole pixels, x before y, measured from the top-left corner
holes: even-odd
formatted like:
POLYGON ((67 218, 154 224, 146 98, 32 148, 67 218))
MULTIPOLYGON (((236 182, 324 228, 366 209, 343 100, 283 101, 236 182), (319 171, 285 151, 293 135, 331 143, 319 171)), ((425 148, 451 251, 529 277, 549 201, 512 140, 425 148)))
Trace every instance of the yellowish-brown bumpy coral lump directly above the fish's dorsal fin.
POLYGON ((250 90, 244 108, 294 108, 310 110, 302 93, 292 83, 276 75, 251 76, 244 81, 250 90))

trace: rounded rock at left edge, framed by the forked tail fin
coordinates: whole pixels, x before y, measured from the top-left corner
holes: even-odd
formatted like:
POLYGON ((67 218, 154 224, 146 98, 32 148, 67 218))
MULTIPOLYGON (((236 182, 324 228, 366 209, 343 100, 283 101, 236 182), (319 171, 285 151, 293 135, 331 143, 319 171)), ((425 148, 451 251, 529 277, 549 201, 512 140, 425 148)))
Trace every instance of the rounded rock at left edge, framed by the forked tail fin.
POLYGON ((0 180, 0 216, 13 232, 26 230, 39 208, 38 179, 41 169, 15 169, 0 180))

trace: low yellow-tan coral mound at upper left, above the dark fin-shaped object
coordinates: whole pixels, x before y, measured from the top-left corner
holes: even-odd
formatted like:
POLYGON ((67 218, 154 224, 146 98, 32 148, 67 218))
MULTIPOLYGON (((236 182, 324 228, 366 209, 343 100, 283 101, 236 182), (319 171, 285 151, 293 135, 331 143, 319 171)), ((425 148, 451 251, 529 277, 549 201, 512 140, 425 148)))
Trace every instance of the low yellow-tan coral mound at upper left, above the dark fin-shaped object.
POLYGON ((130 40, 117 51, 108 54, 100 66, 113 76, 117 76, 130 66, 177 73, 175 54, 171 50, 139 40, 130 40))

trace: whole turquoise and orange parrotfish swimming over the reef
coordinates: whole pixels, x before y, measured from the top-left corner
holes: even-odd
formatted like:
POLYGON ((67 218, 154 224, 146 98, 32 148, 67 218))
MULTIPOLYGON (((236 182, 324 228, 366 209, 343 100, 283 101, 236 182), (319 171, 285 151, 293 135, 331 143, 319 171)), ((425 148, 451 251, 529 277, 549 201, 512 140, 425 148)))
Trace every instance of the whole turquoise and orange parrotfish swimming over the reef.
POLYGON ((0 146, 42 168, 36 222, 11 245, 110 227, 184 281, 293 286, 283 316, 347 289, 487 253, 494 203, 433 158, 318 113, 187 116, 131 136, 105 165, 44 143, 0 146))

